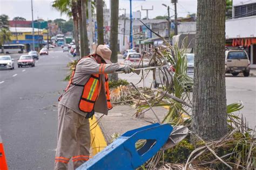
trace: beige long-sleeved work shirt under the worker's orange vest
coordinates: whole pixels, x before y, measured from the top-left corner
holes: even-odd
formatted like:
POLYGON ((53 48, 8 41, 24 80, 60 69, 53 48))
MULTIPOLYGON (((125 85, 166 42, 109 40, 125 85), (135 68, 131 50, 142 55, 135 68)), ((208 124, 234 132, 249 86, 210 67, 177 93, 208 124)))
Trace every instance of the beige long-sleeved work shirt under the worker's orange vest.
MULTIPOLYGON (((73 76, 72 83, 84 85, 90 78, 91 74, 100 74, 100 83, 101 88, 99 96, 95 102, 95 112, 99 112, 107 115, 107 99, 105 93, 105 76, 107 73, 114 73, 117 69, 123 68, 124 65, 119 65, 118 63, 109 64, 99 64, 91 56, 90 58, 81 59, 76 66, 76 72, 73 76)), ((65 107, 77 112, 82 116, 86 116, 86 112, 79 109, 80 97, 83 93, 82 86, 70 85, 69 89, 62 95, 59 104, 64 105, 65 107)))

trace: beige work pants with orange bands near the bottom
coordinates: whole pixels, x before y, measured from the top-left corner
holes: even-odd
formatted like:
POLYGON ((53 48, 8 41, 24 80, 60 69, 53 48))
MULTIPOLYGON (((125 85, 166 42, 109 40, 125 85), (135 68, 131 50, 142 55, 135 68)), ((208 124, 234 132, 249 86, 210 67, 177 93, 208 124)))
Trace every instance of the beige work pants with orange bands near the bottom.
POLYGON ((58 105, 58 136, 55 169, 68 169, 72 157, 76 169, 89 159, 90 124, 84 116, 58 105))

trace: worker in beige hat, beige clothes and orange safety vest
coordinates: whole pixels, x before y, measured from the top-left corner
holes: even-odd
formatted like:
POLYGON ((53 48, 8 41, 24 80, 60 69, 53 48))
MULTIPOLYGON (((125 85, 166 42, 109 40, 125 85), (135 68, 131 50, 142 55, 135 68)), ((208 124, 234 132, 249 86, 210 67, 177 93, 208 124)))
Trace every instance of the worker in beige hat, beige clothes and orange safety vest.
POLYGON ((76 169, 90 158, 89 118, 112 109, 108 73, 130 73, 129 65, 110 61, 111 50, 98 45, 92 55, 78 60, 68 87, 59 98, 55 169, 68 169, 72 157, 76 169))

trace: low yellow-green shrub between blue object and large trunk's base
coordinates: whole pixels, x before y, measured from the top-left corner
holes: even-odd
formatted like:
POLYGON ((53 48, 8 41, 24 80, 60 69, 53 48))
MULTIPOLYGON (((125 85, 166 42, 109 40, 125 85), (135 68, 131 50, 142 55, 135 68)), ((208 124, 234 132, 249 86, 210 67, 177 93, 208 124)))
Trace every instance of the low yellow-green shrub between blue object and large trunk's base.
POLYGON ((178 145, 165 151, 164 159, 167 162, 185 163, 194 148, 192 144, 184 139, 178 145))

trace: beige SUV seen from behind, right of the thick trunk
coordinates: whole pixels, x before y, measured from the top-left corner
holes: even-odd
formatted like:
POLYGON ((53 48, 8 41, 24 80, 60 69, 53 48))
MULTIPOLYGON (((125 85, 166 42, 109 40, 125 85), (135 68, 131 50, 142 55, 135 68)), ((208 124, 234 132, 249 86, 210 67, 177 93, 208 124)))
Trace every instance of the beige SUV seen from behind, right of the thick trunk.
POLYGON ((251 63, 244 50, 227 50, 225 53, 225 70, 237 76, 243 73, 245 77, 250 75, 251 63))

